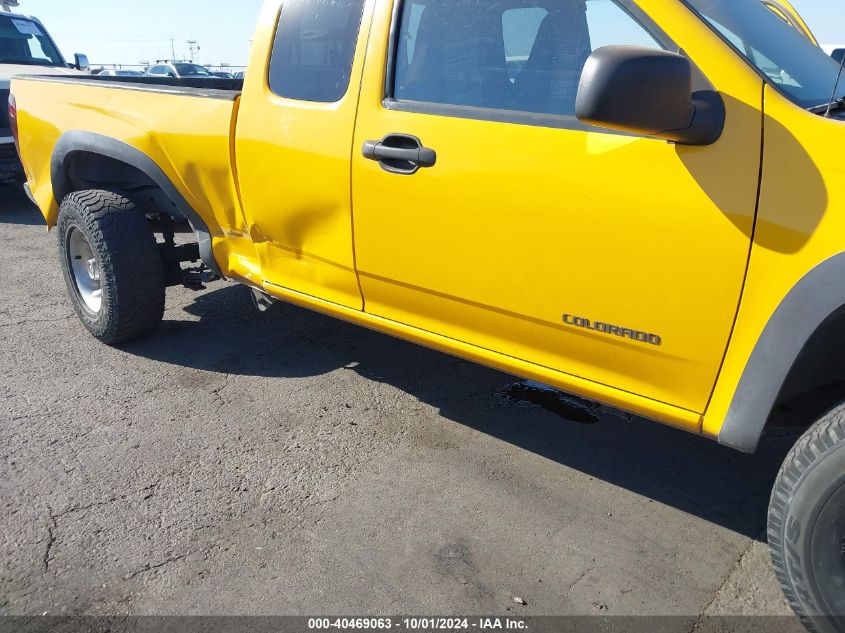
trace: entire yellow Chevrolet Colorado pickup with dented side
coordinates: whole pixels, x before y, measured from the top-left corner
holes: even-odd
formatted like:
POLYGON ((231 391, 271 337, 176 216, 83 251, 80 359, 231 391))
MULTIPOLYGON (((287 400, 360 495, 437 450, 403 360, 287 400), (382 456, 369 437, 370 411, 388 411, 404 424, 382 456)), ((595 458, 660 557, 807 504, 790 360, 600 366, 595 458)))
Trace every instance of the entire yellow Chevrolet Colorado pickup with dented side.
MULTIPOLYGON (((219 277, 753 452, 845 339, 842 69, 767 4, 267 0, 244 82, 10 107, 106 344, 219 277)), ((768 539, 844 631, 845 405, 804 423, 768 539)))

